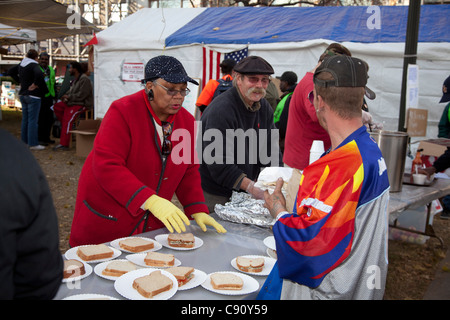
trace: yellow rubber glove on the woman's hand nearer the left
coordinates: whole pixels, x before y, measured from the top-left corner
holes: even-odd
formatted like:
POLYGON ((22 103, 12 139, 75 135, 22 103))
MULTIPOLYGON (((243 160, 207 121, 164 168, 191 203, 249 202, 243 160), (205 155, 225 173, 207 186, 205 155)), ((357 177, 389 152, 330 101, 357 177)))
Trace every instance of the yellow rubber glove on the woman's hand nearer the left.
POLYGON ((149 210, 156 218, 161 220, 171 233, 173 232, 173 228, 175 228, 178 233, 184 232, 186 231, 184 224, 190 224, 188 217, 183 211, 178 209, 177 206, 169 200, 161 198, 156 194, 145 201, 144 209, 149 210))

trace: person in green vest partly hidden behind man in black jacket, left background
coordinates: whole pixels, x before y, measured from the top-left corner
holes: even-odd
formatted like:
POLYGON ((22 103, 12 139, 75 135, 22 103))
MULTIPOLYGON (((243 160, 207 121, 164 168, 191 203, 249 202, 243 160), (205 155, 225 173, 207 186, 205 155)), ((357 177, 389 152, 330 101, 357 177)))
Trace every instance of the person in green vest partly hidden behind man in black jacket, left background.
POLYGON ((49 55, 47 52, 41 52, 39 55, 39 66, 44 73, 45 83, 47 84, 48 93, 41 100, 41 109, 39 111, 38 121, 38 140, 39 144, 47 146, 55 143, 50 139, 55 117, 51 107, 55 103, 55 69, 49 65, 49 55))

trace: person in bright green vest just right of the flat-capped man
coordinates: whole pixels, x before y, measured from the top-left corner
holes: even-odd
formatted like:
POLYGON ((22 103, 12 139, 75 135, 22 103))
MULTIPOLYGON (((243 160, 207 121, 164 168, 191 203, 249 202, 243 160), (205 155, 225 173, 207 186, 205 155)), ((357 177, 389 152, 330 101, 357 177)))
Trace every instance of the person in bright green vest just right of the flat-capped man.
POLYGON ((284 151, 284 137, 286 136, 287 117, 289 111, 289 103, 291 102, 292 93, 297 86, 297 74, 292 71, 284 72, 280 79, 280 90, 283 92, 281 100, 278 102, 277 107, 273 113, 273 122, 279 129, 280 134, 280 150, 284 151))

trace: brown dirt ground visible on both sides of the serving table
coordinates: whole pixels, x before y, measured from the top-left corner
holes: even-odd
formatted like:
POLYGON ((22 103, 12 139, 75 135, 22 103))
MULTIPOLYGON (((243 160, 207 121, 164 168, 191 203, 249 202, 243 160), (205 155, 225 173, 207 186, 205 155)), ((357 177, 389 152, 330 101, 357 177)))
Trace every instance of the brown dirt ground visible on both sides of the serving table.
MULTIPOLYGON (((21 113, 3 108, 0 127, 20 139, 21 113)), ((58 143, 58 139, 55 139, 58 143)), ((41 165, 53 195, 59 219, 61 252, 69 249, 68 238, 72 223, 78 178, 84 158, 70 151, 53 151, 52 146, 42 151, 33 151, 41 165)), ((4 155, 2 155, 4 156, 4 155)), ((413 244, 397 240, 389 241, 389 271, 386 284, 386 300, 421 300, 438 268, 449 270, 450 266, 439 266, 450 245, 450 220, 437 215, 433 220, 437 235, 443 238, 442 248, 437 239, 430 238, 425 244, 413 244)))

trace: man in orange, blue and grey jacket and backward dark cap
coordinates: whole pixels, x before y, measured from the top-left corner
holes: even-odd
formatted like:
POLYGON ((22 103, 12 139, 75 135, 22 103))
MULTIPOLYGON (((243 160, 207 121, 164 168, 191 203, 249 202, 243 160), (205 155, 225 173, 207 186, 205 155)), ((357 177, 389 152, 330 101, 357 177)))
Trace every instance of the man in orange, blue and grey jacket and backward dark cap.
POLYGON ((366 63, 327 57, 313 75, 313 105, 329 133, 328 153, 303 170, 294 212, 265 191, 276 219, 277 263, 259 299, 383 299, 387 275, 389 180, 363 124, 366 63))

